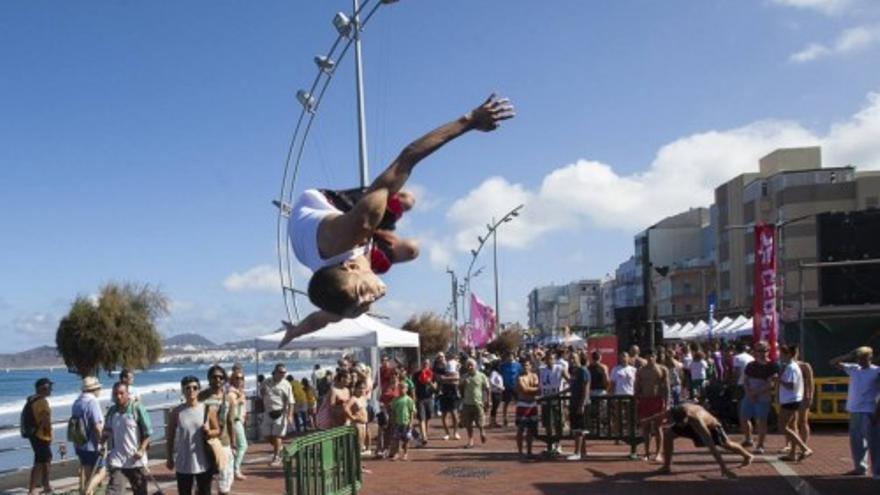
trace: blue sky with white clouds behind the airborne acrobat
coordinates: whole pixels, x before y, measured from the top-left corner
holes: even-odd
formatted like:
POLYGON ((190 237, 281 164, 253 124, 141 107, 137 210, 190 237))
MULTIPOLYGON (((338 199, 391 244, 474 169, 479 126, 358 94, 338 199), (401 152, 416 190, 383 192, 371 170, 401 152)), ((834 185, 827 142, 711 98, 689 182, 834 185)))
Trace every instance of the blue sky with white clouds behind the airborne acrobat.
MULTIPOLYGON (((297 89, 345 0, 0 4, 0 334, 54 342, 77 294, 161 287, 167 334, 274 330, 274 212, 297 89)), ((880 168, 880 9, 870 0, 402 0, 364 33, 371 175, 410 140, 509 96, 517 118, 418 166, 401 233, 422 257, 378 310, 443 312, 493 214, 504 321, 536 285, 599 278, 632 235, 711 202, 778 146, 880 168)), ((300 186, 357 182, 351 58, 300 186)), ((478 266, 491 267, 490 258, 478 266)), ((492 301, 491 270, 474 282, 492 301)), ((8 336, 8 338, 7 338, 8 336)))

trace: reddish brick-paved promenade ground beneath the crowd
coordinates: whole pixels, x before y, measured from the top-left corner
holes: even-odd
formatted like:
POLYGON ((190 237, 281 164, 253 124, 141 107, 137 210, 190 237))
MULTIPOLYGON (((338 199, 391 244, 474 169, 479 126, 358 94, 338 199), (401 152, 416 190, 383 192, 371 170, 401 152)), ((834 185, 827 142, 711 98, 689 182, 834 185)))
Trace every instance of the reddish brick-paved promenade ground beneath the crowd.
MULTIPOLYGON (((861 495, 880 493, 880 481, 870 478, 841 476, 852 468, 848 437, 842 427, 816 428, 811 445, 816 455, 800 464, 776 461, 776 455, 756 459, 744 469, 736 469, 738 479, 721 477, 708 451, 698 449, 689 441, 676 442, 673 474, 652 473, 657 465, 627 458, 629 449, 613 442, 589 444, 586 461, 563 459, 520 460, 516 455, 513 429, 490 430, 489 441, 474 449, 463 449, 465 441, 436 439, 433 429, 428 448, 410 451, 407 462, 365 459, 370 471, 364 474, 365 495, 384 494, 571 494, 601 493, 645 495, 723 495, 723 494, 812 494, 861 495), (800 487, 800 491, 795 487, 800 487)), ((734 435, 738 439, 738 435, 734 435)), ((768 452, 775 452, 782 437, 768 438, 768 452)), ((537 444, 536 444, 537 446, 537 444)), ((571 442, 563 444, 570 451, 571 442)), ((536 449, 536 451, 539 449, 536 449)), ((283 490, 281 469, 269 468, 266 445, 253 447, 245 461, 247 481, 237 481, 233 493, 278 494, 283 490)), ((731 466, 738 457, 726 456, 731 466)), ((174 478, 164 465, 153 471, 166 494, 174 494, 174 478)), ((66 483, 69 484, 70 480, 66 483)), ((64 481, 56 489, 69 488, 64 481)), ((23 492, 22 492, 23 493, 23 492)))

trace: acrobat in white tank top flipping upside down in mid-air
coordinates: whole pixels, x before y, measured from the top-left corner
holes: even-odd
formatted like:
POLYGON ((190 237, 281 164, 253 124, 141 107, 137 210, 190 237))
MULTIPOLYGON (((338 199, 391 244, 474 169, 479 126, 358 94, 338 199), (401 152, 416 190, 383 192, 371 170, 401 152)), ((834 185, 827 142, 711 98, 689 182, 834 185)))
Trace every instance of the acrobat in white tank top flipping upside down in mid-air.
POLYGON ((418 256, 418 245, 393 233, 394 223, 415 198, 403 185, 422 159, 468 131, 493 131, 514 116, 506 98, 491 95, 482 105, 416 139, 370 187, 329 191, 308 189, 290 212, 293 253, 312 270, 309 300, 319 308, 287 329, 279 346, 342 320, 356 318, 385 295, 377 273, 418 256))

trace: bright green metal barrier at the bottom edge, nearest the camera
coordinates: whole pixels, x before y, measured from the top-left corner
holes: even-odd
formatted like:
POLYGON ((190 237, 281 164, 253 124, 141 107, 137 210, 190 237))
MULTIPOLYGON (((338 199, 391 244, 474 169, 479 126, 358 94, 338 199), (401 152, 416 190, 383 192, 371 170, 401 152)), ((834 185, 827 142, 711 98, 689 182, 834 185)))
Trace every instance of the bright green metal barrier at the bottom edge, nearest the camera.
POLYGON ((284 447, 287 495, 354 495, 361 487, 357 430, 343 426, 295 438, 284 447))

